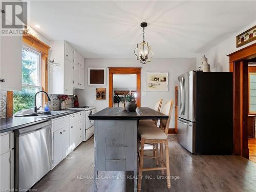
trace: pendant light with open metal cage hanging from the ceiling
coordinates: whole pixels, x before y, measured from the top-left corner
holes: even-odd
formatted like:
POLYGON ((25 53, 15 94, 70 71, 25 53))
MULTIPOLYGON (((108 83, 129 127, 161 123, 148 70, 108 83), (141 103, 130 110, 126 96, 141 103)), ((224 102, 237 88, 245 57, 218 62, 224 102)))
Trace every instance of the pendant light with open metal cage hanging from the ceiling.
POLYGON ((143 22, 140 24, 140 27, 143 28, 143 41, 140 44, 137 44, 137 48, 134 50, 134 54, 141 63, 146 64, 147 62, 151 62, 151 58, 153 56, 153 52, 151 51, 151 47, 145 42, 145 27, 147 23, 143 22))

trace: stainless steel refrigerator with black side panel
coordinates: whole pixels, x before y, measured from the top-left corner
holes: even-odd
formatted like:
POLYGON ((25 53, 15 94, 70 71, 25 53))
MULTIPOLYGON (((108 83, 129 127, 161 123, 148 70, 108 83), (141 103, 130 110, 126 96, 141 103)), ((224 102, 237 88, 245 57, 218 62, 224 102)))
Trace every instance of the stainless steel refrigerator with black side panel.
POLYGON ((232 73, 190 71, 178 80, 178 142, 198 155, 231 155, 232 73))

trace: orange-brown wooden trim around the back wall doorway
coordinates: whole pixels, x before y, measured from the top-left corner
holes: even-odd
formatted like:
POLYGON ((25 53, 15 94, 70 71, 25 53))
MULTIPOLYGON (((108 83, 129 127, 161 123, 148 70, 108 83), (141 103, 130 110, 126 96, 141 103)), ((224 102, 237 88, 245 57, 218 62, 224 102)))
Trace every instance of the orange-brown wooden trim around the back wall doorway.
POLYGON ((119 68, 119 67, 109 67, 109 106, 113 107, 113 74, 136 74, 137 75, 137 106, 140 106, 141 98, 141 68, 119 68))

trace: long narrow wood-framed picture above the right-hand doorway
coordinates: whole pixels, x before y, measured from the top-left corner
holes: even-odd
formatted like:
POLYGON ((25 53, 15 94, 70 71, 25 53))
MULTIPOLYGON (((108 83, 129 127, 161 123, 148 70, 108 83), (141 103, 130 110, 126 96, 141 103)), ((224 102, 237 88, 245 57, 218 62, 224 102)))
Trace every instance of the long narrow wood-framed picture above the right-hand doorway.
POLYGON ((256 25, 236 37, 237 48, 256 39, 256 25))

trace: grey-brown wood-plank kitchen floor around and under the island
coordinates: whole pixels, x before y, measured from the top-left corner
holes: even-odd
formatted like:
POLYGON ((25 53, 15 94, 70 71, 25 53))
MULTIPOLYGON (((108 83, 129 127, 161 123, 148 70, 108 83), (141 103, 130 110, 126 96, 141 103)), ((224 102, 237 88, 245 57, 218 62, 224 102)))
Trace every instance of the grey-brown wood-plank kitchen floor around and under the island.
MULTIPOLYGON (((81 143, 66 159, 60 162, 34 188, 37 192, 93 191, 93 138, 81 143)), ((144 172, 143 191, 256 191, 256 163, 239 156, 195 156, 177 142, 176 135, 169 136, 171 179, 167 189, 166 180, 158 179, 160 171, 144 172), (179 177, 179 178, 178 178, 179 177)), ((145 164, 155 165, 153 159, 145 164)), ((133 172, 100 172, 102 176, 132 176, 133 172)), ((133 179, 100 179, 98 191, 133 191, 133 179)))

